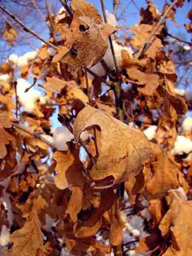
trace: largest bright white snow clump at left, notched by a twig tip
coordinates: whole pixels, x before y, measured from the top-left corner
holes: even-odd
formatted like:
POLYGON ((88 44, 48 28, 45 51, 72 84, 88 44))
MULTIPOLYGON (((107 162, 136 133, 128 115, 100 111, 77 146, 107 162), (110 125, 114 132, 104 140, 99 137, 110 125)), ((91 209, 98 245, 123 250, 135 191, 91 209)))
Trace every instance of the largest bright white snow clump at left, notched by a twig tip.
POLYGON ((33 87, 25 93, 26 88, 30 84, 25 79, 18 79, 17 81, 17 95, 20 103, 23 105, 24 111, 31 113, 35 108, 35 101, 39 99, 41 93, 33 87))

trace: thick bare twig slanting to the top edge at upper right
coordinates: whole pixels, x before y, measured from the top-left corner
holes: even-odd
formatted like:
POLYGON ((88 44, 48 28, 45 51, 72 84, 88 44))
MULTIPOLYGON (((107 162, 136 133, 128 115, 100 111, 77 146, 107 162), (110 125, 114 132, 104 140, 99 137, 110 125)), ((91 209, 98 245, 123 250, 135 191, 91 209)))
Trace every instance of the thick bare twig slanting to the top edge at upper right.
POLYGON ((151 42, 153 41, 154 37, 155 37, 155 33, 157 32, 157 29, 159 28, 159 26, 161 25, 162 21, 164 20, 164 18, 168 15, 168 13, 170 12, 170 10, 175 6, 175 4, 177 3, 178 0, 175 0, 167 9, 167 11, 164 13, 164 15, 160 18, 159 22, 157 23, 157 26, 154 27, 154 29, 151 31, 150 35, 148 36, 147 40, 145 41, 145 43, 143 44, 142 49, 140 49, 140 51, 137 53, 136 58, 140 58, 143 53, 149 49, 149 47, 151 46, 151 42))

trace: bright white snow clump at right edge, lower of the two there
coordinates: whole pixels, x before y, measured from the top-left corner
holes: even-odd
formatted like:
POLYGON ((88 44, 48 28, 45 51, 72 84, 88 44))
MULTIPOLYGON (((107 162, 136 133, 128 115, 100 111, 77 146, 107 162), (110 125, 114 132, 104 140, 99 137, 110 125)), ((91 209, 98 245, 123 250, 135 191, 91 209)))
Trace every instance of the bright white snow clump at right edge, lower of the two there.
POLYGON ((175 142, 175 147, 172 149, 172 154, 188 154, 192 151, 192 141, 184 136, 177 136, 177 140, 175 142))

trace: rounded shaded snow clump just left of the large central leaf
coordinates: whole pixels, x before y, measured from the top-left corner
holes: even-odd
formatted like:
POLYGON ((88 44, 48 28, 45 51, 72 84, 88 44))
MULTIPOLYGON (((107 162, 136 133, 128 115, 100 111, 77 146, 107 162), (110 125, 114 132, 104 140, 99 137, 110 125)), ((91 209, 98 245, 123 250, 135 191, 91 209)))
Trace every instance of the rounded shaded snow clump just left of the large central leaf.
POLYGON ((57 150, 66 151, 68 149, 67 142, 73 140, 73 134, 67 129, 67 127, 57 127, 53 134, 53 143, 57 150))

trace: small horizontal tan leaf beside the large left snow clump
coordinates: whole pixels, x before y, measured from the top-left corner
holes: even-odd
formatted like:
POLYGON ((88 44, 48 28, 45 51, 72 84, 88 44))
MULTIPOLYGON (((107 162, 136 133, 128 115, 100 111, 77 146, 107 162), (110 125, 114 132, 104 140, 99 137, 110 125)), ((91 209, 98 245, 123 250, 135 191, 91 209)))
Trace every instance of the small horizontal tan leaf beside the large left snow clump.
POLYGON ((44 87, 46 90, 49 90, 53 93, 62 90, 66 84, 71 86, 76 85, 75 81, 63 81, 56 77, 46 77, 46 79, 47 79, 47 82, 44 84, 39 84, 39 86, 44 87))

